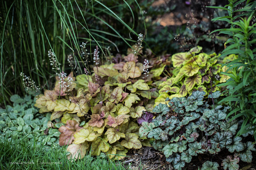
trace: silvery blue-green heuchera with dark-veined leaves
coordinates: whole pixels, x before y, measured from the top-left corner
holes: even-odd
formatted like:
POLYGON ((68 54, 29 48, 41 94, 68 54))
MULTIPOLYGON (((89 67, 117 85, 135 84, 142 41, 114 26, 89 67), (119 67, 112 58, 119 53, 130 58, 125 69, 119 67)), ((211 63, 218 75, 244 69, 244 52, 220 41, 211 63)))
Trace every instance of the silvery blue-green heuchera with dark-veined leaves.
MULTIPOLYGON (((205 92, 196 91, 187 98, 167 98, 169 106, 160 103, 152 111, 157 114, 153 122, 142 123, 140 137, 153 137, 152 146, 162 151, 166 161, 171 162, 177 170, 191 162, 192 156, 205 153, 215 155, 224 149, 228 155, 222 162, 224 169, 231 167, 230 162, 235 164, 233 168, 239 167, 239 160, 250 163, 251 151, 256 151, 254 144, 243 141, 242 137, 235 137, 241 122, 229 122, 230 119, 226 119, 229 108, 211 108, 207 101, 203 101, 204 95, 205 92)), ((219 92, 213 93, 215 97, 219 95, 219 92)), ((244 136, 249 134, 252 135, 252 131, 244 136)), ((207 161, 202 169, 218 169, 219 166, 216 162, 207 161)))

